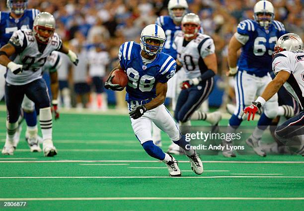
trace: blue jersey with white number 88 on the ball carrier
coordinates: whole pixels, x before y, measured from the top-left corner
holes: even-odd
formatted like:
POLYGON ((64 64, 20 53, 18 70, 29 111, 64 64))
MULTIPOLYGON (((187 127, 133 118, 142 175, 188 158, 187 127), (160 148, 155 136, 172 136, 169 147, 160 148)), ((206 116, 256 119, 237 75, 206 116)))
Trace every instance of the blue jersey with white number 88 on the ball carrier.
POLYGON ((156 97, 157 82, 167 82, 175 73, 175 60, 164 53, 156 55, 152 63, 144 65, 141 46, 135 42, 125 42, 119 49, 120 66, 127 73, 126 101, 146 100, 156 97))

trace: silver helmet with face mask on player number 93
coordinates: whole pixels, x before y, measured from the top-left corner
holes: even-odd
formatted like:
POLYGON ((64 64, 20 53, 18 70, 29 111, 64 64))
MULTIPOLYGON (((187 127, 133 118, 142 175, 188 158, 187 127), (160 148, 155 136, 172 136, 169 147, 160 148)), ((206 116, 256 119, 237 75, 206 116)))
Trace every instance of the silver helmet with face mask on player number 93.
POLYGON ((33 32, 37 41, 47 44, 55 32, 55 18, 48 12, 39 13, 33 23, 33 32))

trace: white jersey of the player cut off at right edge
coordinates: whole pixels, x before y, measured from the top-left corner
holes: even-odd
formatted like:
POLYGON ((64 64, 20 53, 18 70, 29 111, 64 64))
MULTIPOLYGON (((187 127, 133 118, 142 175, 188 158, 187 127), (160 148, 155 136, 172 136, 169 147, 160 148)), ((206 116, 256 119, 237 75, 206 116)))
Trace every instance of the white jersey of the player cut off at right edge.
POLYGON ((272 70, 277 74, 288 71, 290 76, 284 87, 304 108, 304 51, 282 51, 274 56, 272 70))

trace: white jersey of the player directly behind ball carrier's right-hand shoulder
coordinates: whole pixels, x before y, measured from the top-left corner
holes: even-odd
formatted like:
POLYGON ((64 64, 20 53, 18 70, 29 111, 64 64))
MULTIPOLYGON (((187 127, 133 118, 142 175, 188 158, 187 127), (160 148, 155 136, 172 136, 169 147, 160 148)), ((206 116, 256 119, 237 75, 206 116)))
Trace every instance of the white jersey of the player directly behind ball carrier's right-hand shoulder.
POLYGON ((215 52, 213 39, 205 34, 198 36, 187 42, 183 33, 178 34, 174 39, 177 50, 177 59, 183 64, 187 78, 199 77, 208 70, 204 63, 204 58, 215 52))

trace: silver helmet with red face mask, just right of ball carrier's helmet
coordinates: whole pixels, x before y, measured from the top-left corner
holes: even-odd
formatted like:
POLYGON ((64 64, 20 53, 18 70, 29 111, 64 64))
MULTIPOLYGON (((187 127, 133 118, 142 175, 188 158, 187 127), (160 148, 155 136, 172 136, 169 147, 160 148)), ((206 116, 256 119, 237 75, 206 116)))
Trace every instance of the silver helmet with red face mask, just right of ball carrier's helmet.
POLYGON ((194 38, 201 28, 201 20, 197 14, 188 13, 183 17, 181 27, 185 37, 194 38))

